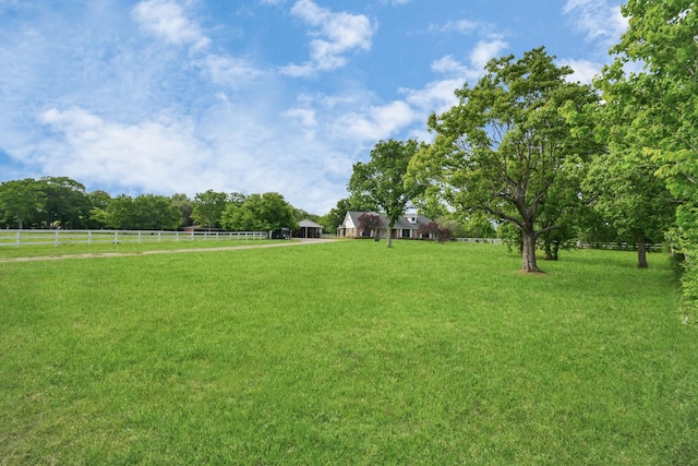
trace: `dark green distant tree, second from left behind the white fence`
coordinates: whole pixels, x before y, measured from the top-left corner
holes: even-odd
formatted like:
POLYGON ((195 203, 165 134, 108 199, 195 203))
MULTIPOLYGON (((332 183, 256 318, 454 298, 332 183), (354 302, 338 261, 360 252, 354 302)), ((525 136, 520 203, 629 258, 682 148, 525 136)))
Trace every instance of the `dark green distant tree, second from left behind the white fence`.
POLYGON ((68 177, 44 177, 39 180, 46 192, 44 216, 46 226, 82 228, 89 218, 92 203, 85 186, 68 177))

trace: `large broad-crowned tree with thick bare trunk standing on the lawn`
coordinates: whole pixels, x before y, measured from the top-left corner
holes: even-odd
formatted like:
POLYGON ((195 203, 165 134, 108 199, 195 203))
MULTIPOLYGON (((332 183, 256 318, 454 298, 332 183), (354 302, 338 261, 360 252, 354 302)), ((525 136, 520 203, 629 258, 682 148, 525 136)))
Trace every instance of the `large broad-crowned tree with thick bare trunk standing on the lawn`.
POLYGON ((571 69, 555 65, 544 48, 518 60, 494 59, 485 71, 478 84, 456 91, 458 105, 429 118, 436 136, 411 172, 443 187, 457 210, 514 225, 521 232, 521 268, 538 272, 537 239, 557 227, 552 218, 541 226, 539 213, 552 192, 579 190, 567 186, 574 179, 567 174, 595 150, 585 108, 597 96, 567 82, 571 69))

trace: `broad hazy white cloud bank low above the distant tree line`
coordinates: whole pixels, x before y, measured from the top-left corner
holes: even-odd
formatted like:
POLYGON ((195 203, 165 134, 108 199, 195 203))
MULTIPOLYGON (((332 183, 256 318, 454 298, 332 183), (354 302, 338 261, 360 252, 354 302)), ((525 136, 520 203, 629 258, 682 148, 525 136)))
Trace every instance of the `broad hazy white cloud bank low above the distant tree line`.
MULTIPOLYGON (((274 103, 217 97, 194 118, 163 112, 131 124, 81 107, 50 108, 39 117, 50 135, 34 147, 33 162, 41 172, 117 193, 275 191, 318 214, 346 195, 354 148, 337 150, 336 141, 320 131, 340 113, 324 113, 327 121, 321 122, 310 106, 274 111, 274 103)), ((390 117, 378 109, 375 118, 381 124, 390 117)))

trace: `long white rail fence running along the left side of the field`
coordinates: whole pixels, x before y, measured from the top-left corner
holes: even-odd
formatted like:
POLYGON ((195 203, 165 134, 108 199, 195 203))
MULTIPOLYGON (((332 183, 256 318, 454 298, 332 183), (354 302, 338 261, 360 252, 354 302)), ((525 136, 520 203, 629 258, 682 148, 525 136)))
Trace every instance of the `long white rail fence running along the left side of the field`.
POLYGON ((268 239, 267 231, 2 230, 0 248, 37 244, 157 243, 268 239))

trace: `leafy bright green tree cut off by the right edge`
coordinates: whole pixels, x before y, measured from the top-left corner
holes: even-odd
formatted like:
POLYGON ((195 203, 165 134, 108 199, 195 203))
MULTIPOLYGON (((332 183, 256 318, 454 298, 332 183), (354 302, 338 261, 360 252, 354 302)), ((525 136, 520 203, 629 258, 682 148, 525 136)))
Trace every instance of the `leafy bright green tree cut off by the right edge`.
POLYGON ((698 11, 694 0, 629 0, 629 26, 597 84, 612 124, 636 154, 659 164, 657 175, 679 202, 674 238, 686 255, 686 296, 698 301, 698 11))

